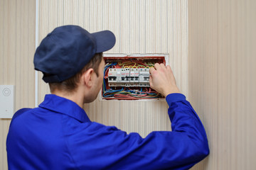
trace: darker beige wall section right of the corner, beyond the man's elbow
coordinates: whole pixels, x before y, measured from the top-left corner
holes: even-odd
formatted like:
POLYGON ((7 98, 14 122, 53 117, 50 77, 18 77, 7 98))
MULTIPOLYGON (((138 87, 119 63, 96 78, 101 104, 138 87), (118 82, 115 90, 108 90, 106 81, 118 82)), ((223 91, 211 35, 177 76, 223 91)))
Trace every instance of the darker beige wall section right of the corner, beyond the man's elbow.
POLYGON ((210 156, 194 169, 256 169, 256 1, 188 1, 188 94, 210 156))

